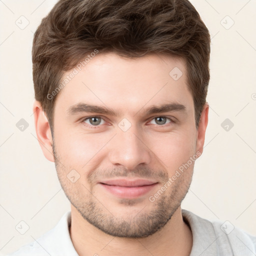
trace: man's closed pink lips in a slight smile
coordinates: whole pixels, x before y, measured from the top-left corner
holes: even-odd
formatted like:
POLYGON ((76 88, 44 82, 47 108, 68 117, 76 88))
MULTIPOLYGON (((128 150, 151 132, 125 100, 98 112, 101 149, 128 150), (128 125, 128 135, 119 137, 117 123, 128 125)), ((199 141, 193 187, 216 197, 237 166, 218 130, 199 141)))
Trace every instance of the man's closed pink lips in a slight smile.
POLYGON ((111 179, 99 182, 107 191, 121 198, 136 198, 149 192, 158 182, 147 179, 111 179))

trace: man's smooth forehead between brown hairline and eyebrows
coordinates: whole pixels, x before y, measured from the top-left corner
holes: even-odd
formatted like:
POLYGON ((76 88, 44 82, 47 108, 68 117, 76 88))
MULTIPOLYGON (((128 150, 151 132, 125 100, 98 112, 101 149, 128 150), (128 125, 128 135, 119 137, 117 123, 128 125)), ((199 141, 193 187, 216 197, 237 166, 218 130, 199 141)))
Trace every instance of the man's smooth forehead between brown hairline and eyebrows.
POLYGON ((82 63, 63 75, 69 80, 57 95, 56 107, 67 110, 82 102, 134 114, 159 103, 180 103, 188 109, 193 104, 181 58, 147 54, 131 59, 99 52, 82 63))

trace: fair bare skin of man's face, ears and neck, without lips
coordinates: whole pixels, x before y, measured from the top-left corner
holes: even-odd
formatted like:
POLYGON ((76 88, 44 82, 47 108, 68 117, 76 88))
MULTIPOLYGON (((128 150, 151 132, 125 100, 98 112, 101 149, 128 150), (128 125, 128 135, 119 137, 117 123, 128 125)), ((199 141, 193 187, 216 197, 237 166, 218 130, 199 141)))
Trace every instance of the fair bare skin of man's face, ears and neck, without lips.
POLYGON ((128 59, 99 52, 57 94, 54 138, 40 102, 34 102, 37 138, 45 157, 55 162, 71 202, 69 232, 79 255, 189 255, 192 234, 180 204, 194 161, 153 202, 149 200, 179 166, 203 149, 209 106, 204 105, 196 129, 185 73, 182 59, 169 55, 128 59), (169 75, 174 67, 183 72, 178 80, 169 75), (185 110, 143 112, 170 102, 185 110), (77 103, 112 108, 118 115, 68 115, 77 103), (97 116, 102 119, 88 118, 97 116), (118 126, 123 118, 131 125, 126 131, 118 126), (74 183, 67 178, 72 169, 80 175, 74 183), (136 198, 119 198, 98 183, 116 177, 158 183, 136 198))

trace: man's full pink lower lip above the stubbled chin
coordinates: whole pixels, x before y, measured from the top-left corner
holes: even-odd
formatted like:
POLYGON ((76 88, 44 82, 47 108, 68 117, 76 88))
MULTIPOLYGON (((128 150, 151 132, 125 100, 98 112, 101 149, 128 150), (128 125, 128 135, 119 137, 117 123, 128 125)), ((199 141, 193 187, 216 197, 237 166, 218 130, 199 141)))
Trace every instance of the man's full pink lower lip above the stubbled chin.
POLYGON ((109 192, 122 198, 136 198, 149 192, 157 183, 144 186, 116 186, 99 183, 109 192))

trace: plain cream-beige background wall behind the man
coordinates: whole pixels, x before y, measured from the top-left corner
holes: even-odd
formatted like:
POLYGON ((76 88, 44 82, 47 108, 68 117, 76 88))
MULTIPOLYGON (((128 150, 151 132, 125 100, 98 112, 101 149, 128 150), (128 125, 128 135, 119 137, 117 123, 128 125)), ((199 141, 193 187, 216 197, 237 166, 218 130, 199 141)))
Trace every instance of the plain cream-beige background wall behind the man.
MULTIPOLYGON (((0 255, 38 238, 69 210, 32 115, 33 32, 55 2, 0 0, 0 255), (21 118, 28 123, 23 131, 16 127, 21 118), (15 229, 21 220, 29 226, 24 234, 15 229)), ((256 1, 191 2, 212 38, 210 111, 204 152, 182 208, 256 235, 256 1), (221 126, 226 118, 234 124, 228 131, 221 126)))

